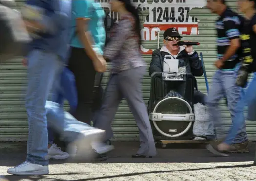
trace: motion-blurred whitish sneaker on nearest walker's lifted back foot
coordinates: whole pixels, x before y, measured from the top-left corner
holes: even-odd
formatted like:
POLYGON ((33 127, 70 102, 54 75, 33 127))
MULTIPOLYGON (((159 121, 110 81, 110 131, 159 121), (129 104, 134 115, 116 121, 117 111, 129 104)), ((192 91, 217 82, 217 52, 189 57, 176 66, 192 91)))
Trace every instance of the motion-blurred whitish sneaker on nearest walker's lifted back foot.
POLYGON ((71 155, 78 159, 92 160, 95 152, 91 147, 92 142, 100 142, 104 138, 105 131, 97 128, 82 131, 78 139, 68 145, 68 153, 72 153, 76 145, 76 155, 71 155))

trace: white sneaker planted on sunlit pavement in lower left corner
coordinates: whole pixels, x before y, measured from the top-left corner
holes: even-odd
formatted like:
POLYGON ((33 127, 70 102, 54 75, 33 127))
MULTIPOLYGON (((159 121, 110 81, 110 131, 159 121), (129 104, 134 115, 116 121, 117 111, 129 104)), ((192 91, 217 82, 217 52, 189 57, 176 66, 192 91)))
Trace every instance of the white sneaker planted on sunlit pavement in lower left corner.
POLYGON ((7 173, 13 175, 45 175, 49 173, 49 168, 48 166, 24 162, 14 168, 9 168, 7 173))

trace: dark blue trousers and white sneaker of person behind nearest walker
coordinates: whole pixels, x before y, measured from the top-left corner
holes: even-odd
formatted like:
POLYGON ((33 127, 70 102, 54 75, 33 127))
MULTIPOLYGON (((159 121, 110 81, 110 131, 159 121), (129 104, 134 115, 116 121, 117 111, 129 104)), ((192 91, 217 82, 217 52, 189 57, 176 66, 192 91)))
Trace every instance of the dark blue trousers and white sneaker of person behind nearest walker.
MULTIPOLYGON (((73 73, 64 67, 61 73, 60 86, 53 91, 52 99, 53 102, 64 106, 64 100, 67 100, 70 106, 70 112, 74 111, 77 107, 77 90, 76 80, 73 73)), ((54 131, 48 126, 48 155, 47 159, 66 159, 69 157, 67 152, 61 150, 54 141, 54 131)))

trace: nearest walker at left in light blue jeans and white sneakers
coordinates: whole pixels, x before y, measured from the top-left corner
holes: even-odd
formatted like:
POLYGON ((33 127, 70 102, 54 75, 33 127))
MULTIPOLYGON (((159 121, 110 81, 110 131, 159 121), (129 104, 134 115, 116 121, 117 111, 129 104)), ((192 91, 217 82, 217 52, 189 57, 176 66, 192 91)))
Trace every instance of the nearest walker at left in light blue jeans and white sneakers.
POLYGON ((28 86, 25 106, 29 130, 27 157, 22 164, 9 168, 7 173, 43 175, 49 173, 49 161, 45 158, 48 154, 47 124, 60 133, 62 140, 69 142, 70 149, 77 145, 80 150, 77 156, 86 159, 93 154, 90 143, 102 140, 105 131, 77 121, 60 104, 47 101, 67 60, 72 1, 29 0, 26 5, 22 8, 29 12, 24 14, 26 28, 37 35, 30 42, 26 56, 28 86))

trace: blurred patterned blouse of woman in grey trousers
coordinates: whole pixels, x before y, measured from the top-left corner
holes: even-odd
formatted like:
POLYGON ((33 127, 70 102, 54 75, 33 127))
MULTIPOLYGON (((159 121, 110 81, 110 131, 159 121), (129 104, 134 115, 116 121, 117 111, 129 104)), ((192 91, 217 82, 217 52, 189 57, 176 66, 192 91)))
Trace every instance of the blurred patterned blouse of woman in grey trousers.
POLYGON ((111 73, 146 66, 142 58, 139 36, 134 30, 133 15, 122 16, 122 19, 111 30, 110 41, 104 50, 104 57, 111 60, 111 73))

